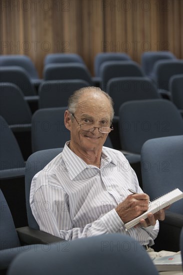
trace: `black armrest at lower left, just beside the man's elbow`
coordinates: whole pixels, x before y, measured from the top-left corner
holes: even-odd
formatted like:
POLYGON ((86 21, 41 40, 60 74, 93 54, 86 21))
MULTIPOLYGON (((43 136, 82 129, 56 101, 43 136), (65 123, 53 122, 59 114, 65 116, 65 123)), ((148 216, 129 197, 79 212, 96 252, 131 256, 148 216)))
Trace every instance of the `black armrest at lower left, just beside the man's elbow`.
POLYGON ((16 231, 20 241, 25 244, 33 244, 33 243, 47 244, 47 243, 58 242, 62 240, 65 241, 65 239, 53 236, 49 233, 46 233, 40 230, 33 229, 28 226, 16 228, 16 231))

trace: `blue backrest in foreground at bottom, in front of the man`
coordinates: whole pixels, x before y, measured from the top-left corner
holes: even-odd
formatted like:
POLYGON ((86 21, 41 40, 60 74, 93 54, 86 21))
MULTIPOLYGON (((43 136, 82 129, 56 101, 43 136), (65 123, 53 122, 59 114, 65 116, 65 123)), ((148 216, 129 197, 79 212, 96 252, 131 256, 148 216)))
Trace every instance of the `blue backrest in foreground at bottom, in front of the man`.
POLYGON ((47 251, 21 253, 11 264, 8 275, 26 274, 27 270, 28 274, 36 275, 158 274, 139 241, 119 233, 77 238, 51 245, 47 251))

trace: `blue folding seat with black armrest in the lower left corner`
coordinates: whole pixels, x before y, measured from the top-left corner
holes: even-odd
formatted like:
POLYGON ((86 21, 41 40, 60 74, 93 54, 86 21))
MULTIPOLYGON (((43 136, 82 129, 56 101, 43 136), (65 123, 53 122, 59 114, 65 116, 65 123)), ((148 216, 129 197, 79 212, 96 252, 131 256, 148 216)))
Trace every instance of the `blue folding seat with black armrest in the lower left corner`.
MULTIPOLYGON (((14 200, 17 200, 15 197, 14 200)), ((13 259, 28 251, 49 247, 50 243, 61 238, 28 226, 16 228, 7 201, 0 189, 0 270, 5 274, 13 259), (25 230, 26 229, 26 230, 25 230), (19 230, 19 231, 18 231, 19 230), (24 232, 24 233, 23 233, 24 232), (42 244, 46 244, 43 246, 42 244)))

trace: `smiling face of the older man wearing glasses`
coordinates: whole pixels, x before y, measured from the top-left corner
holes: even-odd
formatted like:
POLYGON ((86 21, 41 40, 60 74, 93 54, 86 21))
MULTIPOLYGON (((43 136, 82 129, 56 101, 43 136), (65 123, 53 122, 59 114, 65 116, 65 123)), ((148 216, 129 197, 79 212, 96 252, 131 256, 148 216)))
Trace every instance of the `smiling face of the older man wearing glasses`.
MULTIPOLYGON (((67 115, 70 115, 69 112, 67 115)), ((82 151, 100 150, 108 133, 102 133, 94 127, 110 126, 111 108, 108 98, 103 94, 84 93, 79 99, 74 117, 76 119, 69 119, 67 124, 72 147, 82 151), (79 124, 89 125, 91 130, 84 130, 79 124)))

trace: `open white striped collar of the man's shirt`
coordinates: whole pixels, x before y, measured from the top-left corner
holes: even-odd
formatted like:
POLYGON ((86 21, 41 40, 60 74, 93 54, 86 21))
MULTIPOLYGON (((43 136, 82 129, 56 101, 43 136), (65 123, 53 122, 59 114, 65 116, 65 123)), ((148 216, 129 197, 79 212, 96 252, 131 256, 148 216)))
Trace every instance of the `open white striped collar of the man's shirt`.
MULTIPOLYGON (((68 144, 69 144, 69 141, 65 143, 61 155, 63 157, 63 161, 67 163, 67 169, 71 180, 86 168, 91 168, 91 167, 97 168, 93 165, 88 165, 84 160, 82 160, 82 158, 80 158, 72 150, 70 150, 70 148, 68 147, 68 144)), ((115 161, 113 161, 111 157, 107 154, 107 152, 105 151, 105 148, 106 147, 102 148, 100 166, 104 167, 110 162, 114 165, 117 165, 115 161)))

